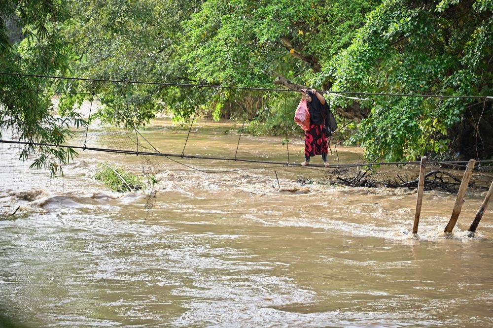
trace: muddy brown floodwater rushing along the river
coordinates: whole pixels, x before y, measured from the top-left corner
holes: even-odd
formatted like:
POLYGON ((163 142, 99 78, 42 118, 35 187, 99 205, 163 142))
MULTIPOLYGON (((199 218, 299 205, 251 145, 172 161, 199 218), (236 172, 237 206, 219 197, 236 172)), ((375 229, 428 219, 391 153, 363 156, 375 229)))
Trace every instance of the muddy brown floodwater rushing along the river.
MULTIPOLYGON (((220 125, 195 128, 185 154, 234 158, 238 146, 238 158, 286 161, 283 137, 238 145, 220 125)), ((180 154, 187 132, 141 133, 180 154)), ((101 135, 88 146, 107 146, 101 135)), ((142 193, 94 179, 104 161, 140 172, 142 156, 80 151, 50 181, 17 162, 16 146, 0 147, 0 326, 493 325, 492 205, 477 234, 465 232, 486 189, 467 193, 452 236, 443 230, 455 195, 425 192, 413 239, 414 191, 317 183, 333 169, 152 158, 146 211, 142 193)), ((302 149, 291 140, 289 161, 302 162, 302 149)), ((362 153, 338 147, 338 156, 362 153)))

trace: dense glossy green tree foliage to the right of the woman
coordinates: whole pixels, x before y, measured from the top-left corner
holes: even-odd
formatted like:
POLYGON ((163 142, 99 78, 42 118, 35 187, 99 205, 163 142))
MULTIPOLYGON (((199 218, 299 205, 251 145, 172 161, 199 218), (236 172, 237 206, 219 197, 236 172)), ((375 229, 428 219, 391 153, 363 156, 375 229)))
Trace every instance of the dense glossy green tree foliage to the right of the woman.
MULTIPOLYGON (((486 0, 384 1, 315 80, 333 79, 333 91, 489 96, 492 8, 486 0)), ((351 140, 382 160, 442 154, 466 109, 482 101, 378 97, 351 140)))

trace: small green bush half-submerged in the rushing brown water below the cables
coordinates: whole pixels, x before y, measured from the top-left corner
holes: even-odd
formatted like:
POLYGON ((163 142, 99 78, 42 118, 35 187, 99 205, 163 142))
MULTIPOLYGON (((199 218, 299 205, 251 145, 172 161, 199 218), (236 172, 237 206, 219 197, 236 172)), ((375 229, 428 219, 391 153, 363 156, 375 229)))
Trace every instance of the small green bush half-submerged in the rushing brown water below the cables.
MULTIPOLYGON (((98 164, 95 178, 114 192, 126 193, 142 189, 141 179, 121 167, 111 167, 106 163, 98 164)), ((151 176, 151 183, 156 183, 154 176, 151 176)))

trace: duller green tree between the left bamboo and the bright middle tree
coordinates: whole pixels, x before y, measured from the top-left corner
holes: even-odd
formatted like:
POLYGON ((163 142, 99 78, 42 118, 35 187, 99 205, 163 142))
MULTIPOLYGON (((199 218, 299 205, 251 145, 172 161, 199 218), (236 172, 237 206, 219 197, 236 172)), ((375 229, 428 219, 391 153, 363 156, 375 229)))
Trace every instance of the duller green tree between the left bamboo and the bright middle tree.
MULTIPOLYGON (((70 0, 73 18, 63 30, 79 56, 77 77, 148 82, 190 82, 180 66, 181 22, 201 1, 70 0)), ((200 93, 152 84, 70 82, 70 88, 96 94, 103 122, 138 127, 168 106, 188 118, 200 93), (188 101, 182 101, 183 99, 188 101), (163 102, 165 100, 165 102, 163 102)), ((66 98, 66 107, 84 96, 66 98)))

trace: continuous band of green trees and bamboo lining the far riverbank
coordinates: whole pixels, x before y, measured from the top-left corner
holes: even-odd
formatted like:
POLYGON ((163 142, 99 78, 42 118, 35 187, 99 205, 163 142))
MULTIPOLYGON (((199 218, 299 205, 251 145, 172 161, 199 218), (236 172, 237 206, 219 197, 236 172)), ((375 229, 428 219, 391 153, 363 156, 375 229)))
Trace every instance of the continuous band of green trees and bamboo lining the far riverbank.
MULTIPOLYGON (((493 158, 491 0, 4 2, 2 71, 329 90, 344 127, 337 137, 363 146, 369 161, 493 158), (17 40, 12 22, 22 28, 17 40)), ((292 121, 300 94, 292 92, 13 75, 0 75, 0 88, 1 128, 33 142, 63 143, 71 125, 87 123, 74 104, 93 95, 103 104, 95 115, 113 125, 144 126, 158 112, 183 122, 199 109, 246 121, 252 134, 302 133, 292 121), (49 88, 73 93, 62 97, 60 119, 42 91, 49 88)), ((37 166, 74 155, 29 146, 28 154, 39 155, 37 166)))

